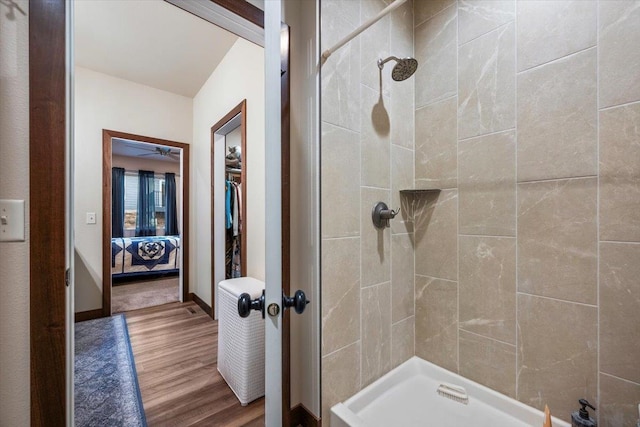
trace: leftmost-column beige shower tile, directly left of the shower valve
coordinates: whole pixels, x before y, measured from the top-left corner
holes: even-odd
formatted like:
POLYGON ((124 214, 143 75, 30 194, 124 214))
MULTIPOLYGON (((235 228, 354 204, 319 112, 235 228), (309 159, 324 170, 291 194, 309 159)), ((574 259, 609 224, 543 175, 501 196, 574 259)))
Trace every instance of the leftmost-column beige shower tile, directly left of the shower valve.
POLYGON ((360 234, 360 135, 322 123, 322 237, 360 234), (339 207, 340 215, 336 215, 339 207))

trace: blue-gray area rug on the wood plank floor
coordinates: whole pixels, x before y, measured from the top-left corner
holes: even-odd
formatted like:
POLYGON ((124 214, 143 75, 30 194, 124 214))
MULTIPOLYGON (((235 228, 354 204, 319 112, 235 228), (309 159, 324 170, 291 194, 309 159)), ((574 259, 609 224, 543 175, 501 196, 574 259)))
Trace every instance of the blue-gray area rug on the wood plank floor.
POLYGON ((75 324, 75 425, 146 426, 124 315, 75 324))

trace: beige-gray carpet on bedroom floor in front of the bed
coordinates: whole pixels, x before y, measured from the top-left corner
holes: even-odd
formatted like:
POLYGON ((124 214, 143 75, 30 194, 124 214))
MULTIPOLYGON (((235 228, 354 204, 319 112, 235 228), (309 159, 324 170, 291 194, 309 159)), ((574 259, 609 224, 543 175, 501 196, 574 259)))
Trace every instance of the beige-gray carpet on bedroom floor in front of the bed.
POLYGON ((111 310, 120 313, 176 302, 179 291, 177 277, 120 284, 111 288, 111 310))

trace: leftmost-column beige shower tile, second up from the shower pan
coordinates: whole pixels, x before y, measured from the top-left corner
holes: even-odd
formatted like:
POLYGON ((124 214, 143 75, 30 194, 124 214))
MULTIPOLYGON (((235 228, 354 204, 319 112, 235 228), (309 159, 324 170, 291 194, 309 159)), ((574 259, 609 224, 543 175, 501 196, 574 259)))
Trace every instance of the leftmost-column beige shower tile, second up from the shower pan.
POLYGON ((322 354, 360 339, 360 239, 322 241, 322 354))

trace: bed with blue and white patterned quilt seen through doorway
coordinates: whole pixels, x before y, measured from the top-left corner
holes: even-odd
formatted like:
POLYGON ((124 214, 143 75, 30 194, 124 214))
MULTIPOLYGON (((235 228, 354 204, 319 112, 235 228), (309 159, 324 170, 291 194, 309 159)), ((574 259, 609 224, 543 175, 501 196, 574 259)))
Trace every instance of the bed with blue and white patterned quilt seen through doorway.
POLYGON ((179 236, 114 237, 111 239, 111 276, 177 273, 179 250, 179 236))

